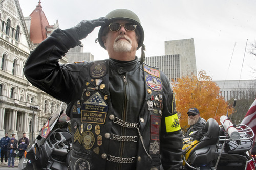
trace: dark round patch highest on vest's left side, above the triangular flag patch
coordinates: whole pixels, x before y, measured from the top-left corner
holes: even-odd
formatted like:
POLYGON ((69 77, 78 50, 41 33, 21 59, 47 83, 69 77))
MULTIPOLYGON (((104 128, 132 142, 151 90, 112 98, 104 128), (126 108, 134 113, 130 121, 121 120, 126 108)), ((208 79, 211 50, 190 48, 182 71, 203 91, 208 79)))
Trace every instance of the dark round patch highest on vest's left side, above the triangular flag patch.
POLYGON ((106 75, 106 62, 105 61, 97 61, 93 62, 90 66, 90 76, 95 79, 102 78, 106 75))

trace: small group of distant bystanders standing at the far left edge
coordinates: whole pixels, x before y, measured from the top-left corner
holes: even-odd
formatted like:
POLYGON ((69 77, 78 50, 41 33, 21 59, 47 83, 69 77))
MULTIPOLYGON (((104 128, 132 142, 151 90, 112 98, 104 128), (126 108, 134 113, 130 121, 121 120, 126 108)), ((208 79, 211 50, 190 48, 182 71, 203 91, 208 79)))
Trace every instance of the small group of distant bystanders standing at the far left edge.
POLYGON ((23 133, 23 137, 19 140, 15 136, 16 134, 12 133, 10 138, 8 137, 8 132, 5 132, 5 137, 0 140, 1 164, 8 164, 8 167, 11 167, 11 165, 14 167, 15 157, 18 156, 21 159, 29 145, 29 139, 26 137, 26 133, 23 133))

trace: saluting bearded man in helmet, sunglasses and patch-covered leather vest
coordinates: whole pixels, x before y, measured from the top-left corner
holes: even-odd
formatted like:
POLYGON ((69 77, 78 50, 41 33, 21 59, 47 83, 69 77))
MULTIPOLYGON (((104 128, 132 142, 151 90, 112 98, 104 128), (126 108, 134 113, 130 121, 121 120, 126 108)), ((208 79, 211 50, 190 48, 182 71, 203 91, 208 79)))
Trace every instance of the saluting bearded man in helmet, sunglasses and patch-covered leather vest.
POLYGON ((144 31, 126 9, 55 30, 29 55, 24 74, 68 104, 70 169, 179 169, 182 132, 169 79, 143 63, 144 31), (97 42, 109 59, 59 64, 70 48, 101 26, 97 42), (136 51, 141 48, 139 60, 136 51))

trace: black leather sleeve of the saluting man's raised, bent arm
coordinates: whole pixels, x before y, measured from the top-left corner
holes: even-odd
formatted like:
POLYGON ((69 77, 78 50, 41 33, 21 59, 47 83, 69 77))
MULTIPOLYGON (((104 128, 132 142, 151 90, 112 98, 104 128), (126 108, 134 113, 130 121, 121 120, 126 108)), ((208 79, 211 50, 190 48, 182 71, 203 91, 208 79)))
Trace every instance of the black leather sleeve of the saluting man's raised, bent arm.
POLYGON ((55 30, 29 55, 24 66, 28 81, 54 98, 70 102, 70 95, 84 63, 60 65, 59 59, 78 42, 74 29, 55 30))

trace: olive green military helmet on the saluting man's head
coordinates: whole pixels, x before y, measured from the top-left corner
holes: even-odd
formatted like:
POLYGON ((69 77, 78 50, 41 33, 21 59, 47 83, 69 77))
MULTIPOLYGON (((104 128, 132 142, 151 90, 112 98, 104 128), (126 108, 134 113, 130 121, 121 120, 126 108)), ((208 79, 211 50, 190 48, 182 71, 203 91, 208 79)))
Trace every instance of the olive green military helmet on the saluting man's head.
POLYGON ((112 21, 118 20, 118 19, 128 20, 128 21, 131 21, 132 23, 135 23, 137 25, 136 29, 139 31, 139 34, 140 34, 140 40, 139 40, 139 43, 138 43, 137 50, 143 45, 144 31, 143 31, 143 28, 140 24, 139 17, 134 12, 132 12, 130 10, 127 10, 127 9, 116 9, 116 10, 111 11, 110 13, 108 13, 106 15, 106 18, 108 19, 108 22, 106 22, 105 26, 102 26, 100 28, 99 34, 98 34, 98 42, 99 42, 99 44, 102 48, 106 49, 106 47, 104 45, 104 42, 101 39, 101 37, 103 36, 104 28, 106 26, 108 26, 112 21))

